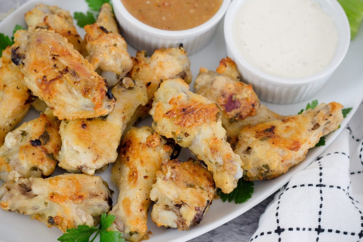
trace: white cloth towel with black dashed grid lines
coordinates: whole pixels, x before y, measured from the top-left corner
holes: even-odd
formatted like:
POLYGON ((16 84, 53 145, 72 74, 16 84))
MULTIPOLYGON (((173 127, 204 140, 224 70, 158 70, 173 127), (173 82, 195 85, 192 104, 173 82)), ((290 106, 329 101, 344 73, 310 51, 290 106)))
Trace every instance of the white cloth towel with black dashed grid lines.
POLYGON ((363 242, 363 104, 337 139, 281 188, 250 241, 363 242))

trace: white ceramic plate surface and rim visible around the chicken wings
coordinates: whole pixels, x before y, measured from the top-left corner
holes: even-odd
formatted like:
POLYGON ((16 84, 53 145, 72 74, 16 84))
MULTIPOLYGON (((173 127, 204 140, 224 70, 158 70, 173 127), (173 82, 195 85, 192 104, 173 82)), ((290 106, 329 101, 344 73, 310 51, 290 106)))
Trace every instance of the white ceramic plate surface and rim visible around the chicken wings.
MULTIPOLYGON (((74 0, 63 0, 59 3, 57 0, 30 0, 29 2, 22 5, 15 12, 13 12, 7 19, 0 22, 0 32, 8 35, 12 34, 12 29, 15 24, 23 24, 25 26, 23 14, 30 10, 34 5, 38 3, 44 4, 54 4, 59 5, 60 7, 69 10, 71 13, 74 12, 74 6, 77 5, 76 11, 86 12, 86 5, 82 1, 74 1, 74 0)), ((82 32, 84 34, 84 31, 82 32)), ((81 33, 81 35, 82 35, 81 33)), ((134 55, 135 50, 129 48, 131 54, 134 55), (133 53, 132 53, 133 52, 133 53)), ((336 73, 334 73, 333 77, 330 79, 328 84, 321 90, 317 95, 313 98, 309 99, 309 101, 313 99, 319 99, 319 102, 331 102, 338 101, 342 103, 346 107, 353 107, 353 110, 350 114, 348 114, 347 118, 343 120, 341 124, 342 127, 345 127, 354 112, 357 110, 360 102, 363 98, 363 72, 361 70, 361 66, 363 66, 363 60, 360 56, 363 50, 363 33, 360 32, 351 43, 350 47, 351 51, 348 50, 348 54, 346 60, 342 62, 342 65, 338 67, 336 73), (345 70, 345 71, 344 71, 345 70), (343 80, 344 82, 339 82, 343 80), (340 95, 339 95, 340 94, 340 95)), ((223 38, 223 29, 222 25, 219 25, 219 29, 211 43, 209 43, 204 49, 200 52, 197 52, 190 56, 192 63, 192 73, 194 78, 198 73, 199 67, 204 66, 208 69, 214 70, 220 58, 225 57, 226 50, 224 47, 224 38, 223 38), (208 58, 206 58, 208 57, 208 58)), ((192 86, 192 85, 191 85, 192 86)), ((307 101, 300 102, 297 104, 289 104, 289 105, 279 105, 279 104, 270 104, 264 103, 271 110, 279 112, 280 114, 288 115, 295 114, 301 108, 305 107, 307 101)), ((28 121, 32 118, 25 118, 24 121, 28 121)), ((150 119, 147 121, 150 122, 150 119)), ((307 165, 309 165, 313 160, 318 157, 319 154, 323 152, 325 148, 339 135, 343 128, 340 128, 337 131, 329 134, 326 138, 326 145, 323 147, 318 147, 312 149, 306 159, 290 169, 289 172, 284 175, 269 181, 259 181, 255 182, 255 192, 250 200, 245 202, 244 204, 234 204, 234 203, 223 203, 221 200, 216 199, 213 201, 208 212, 205 214, 203 220, 200 225, 193 226, 188 231, 177 231, 174 229, 164 230, 161 228, 157 228, 152 222, 148 222, 148 230, 151 230, 154 235, 150 236, 149 242, 156 241, 187 241, 188 239, 192 239, 206 233, 225 222, 232 220, 233 218, 241 215, 246 212, 253 206, 257 205, 259 202, 264 200, 270 194, 278 190, 282 185, 290 180, 290 177, 293 176, 296 172, 301 171, 307 165)), ((188 153, 185 153, 181 160, 185 160, 185 157, 188 157, 188 153)), ((64 171, 63 171, 64 172, 64 171)), ((101 176, 105 178, 107 174, 109 174, 110 168, 108 168, 105 172, 101 173, 101 176), (108 173, 107 173, 108 172, 108 173)), ((60 174, 57 171, 57 174, 60 174)), ((110 188, 116 190, 115 186, 111 184, 109 178, 107 182, 109 182, 110 188)), ((0 182, 1 184, 1 182, 0 182)), ((115 198, 117 198, 117 193, 114 194, 113 200, 116 202, 115 198)), ((0 241, 1 242, 13 242, 20 241, 21 238, 25 241, 36 242, 36 241, 56 241, 61 235, 61 232, 53 227, 52 229, 48 229, 43 223, 38 223, 35 220, 30 220, 29 216, 24 216, 16 213, 7 213, 3 210, 0 210, 0 241)), ((251 231, 252 232, 252 231, 251 231)))

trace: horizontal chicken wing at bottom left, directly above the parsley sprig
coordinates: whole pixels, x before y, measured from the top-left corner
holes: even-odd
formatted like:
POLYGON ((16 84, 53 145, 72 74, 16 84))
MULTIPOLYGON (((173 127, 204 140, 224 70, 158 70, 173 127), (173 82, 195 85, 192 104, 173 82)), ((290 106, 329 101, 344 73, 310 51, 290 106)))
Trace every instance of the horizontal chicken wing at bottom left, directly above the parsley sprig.
POLYGON ((108 185, 99 176, 30 177, 0 187, 2 209, 30 215, 63 232, 78 225, 94 226, 111 205, 108 185))

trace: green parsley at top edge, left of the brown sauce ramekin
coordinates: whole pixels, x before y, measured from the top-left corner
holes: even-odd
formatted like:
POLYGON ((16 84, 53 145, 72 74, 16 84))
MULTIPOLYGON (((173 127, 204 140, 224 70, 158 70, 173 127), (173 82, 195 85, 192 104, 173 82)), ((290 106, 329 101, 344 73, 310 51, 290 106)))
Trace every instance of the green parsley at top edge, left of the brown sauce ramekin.
POLYGON ((82 12, 75 12, 73 15, 74 19, 77 20, 77 25, 81 28, 87 24, 94 24, 102 4, 110 3, 110 0, 86 0, 86 2, 91 11, 87 11, 86 14, 82 12))

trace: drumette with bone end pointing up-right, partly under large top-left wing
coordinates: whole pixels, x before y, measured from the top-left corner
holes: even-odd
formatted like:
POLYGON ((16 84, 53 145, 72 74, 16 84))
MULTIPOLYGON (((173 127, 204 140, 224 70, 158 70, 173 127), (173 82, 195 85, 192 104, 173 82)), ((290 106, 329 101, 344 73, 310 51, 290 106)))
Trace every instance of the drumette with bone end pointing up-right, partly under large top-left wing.
POLYGON ((114 86, 112 92, 117 101, 108 116, 62 121, 62 147, 57 156, 60 167, 93 175, 95 170, 115 162, 126 124, 136 108, 147 103, 147 93, 143 82, 128 77, 114 86))

